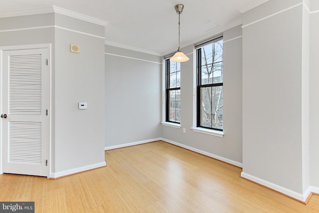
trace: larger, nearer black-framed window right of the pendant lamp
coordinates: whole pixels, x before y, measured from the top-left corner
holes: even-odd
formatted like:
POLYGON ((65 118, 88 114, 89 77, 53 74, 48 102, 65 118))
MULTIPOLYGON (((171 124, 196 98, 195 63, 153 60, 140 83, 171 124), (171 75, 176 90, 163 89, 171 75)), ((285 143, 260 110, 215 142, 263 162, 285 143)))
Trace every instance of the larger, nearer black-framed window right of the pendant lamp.
POLYGON ((223 130, 223 38, 197 48, 197 127, 223 130))

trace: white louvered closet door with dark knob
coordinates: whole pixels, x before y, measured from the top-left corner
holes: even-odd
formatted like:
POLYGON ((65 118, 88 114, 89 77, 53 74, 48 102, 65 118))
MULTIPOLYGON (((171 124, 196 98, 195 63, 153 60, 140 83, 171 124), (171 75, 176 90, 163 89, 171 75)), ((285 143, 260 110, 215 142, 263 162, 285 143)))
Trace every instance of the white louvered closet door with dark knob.
POLYGON ((3 51, 3 173, 47 176, 47 51, 3 51))

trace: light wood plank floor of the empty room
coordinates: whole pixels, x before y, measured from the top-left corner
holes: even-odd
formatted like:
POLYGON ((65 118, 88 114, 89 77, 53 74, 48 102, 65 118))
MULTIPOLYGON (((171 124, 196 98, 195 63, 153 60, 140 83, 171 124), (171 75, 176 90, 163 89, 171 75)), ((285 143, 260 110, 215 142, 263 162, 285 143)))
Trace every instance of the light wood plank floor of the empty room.
POLYGON ((240 178, 241 169, 162 141, 105 152, 107 167, 48 180, 0 175, 0 201, 43 213, 313 213, 308 205, 240 178))

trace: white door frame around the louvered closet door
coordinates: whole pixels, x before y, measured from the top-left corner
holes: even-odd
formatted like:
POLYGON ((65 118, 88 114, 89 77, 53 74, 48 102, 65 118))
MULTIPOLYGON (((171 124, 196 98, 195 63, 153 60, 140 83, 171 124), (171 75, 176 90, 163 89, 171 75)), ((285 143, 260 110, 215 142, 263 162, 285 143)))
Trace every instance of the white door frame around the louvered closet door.
MULTIPOLYGON (((7 50, 25 50, 25 49, 47 49, 48 53, 48 94, 47 94, 47 101, 48 101, 48 120, 47 120, 47 127, 46 130, 48 133, 48 137, 45 140, 47 143, 47 159, 48 159, 48 165, 47 165, 47 178, 51 178, 52 172, 52 54, 51 54, 51 44, 50 43, 44 43, 44 44, 27 44, 27 45, 14 45, 14 46, 0 46, 0 82, 2 81, 3 76, 3 63, 2 63, 2 57, 3 57, 3 51, 7 50)), ((0 94, 2 94, 2 87, 0 86, 0 94)), ((0 97, 0 112, 2 111, 2 96, 0 97)), ((2 135, 2 122, 0 122, 0 133, 2 135)), ((3 174, 2 172, 2 151, 3 151, 3 142, 2 137, 0 137, 0 175, 3 174)))

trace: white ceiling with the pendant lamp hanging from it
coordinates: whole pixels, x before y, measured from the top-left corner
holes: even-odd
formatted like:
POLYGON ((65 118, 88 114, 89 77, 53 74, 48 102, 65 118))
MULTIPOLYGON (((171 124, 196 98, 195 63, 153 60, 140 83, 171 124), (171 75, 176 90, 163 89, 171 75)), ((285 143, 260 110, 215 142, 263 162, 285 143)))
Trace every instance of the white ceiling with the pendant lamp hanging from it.
POLYGON ((0 0, 9 10, 55 5, 109 22, 106 43, 165 55, 178 46, 178 14, 184 4, 181 47, 241 23, 241 13, 268 0, 0 0))

